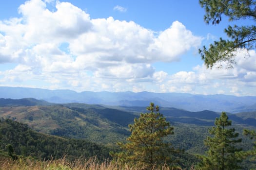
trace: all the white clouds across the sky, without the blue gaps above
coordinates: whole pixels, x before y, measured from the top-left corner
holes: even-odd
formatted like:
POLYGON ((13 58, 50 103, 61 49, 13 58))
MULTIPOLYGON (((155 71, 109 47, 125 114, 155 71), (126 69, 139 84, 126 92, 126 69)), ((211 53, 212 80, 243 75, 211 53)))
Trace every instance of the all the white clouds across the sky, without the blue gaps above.
POLYGON ((246 60, 238 54, 232 70, 156 70, 154 63, 177 62, 201 45, 203 38, 179 21, 154 32, 133 21, 90 18, 69 2, 52 0, 29 0, 18 11, 21 17, 0 21, 0 65, 16 64, 0 71, 0 85, 236 95, 252 94, 250 88, 239 92, 245 83, 256 86, 255 51, 246 60), (50 2, 56 3, 54 11, 47 8, 50 2))

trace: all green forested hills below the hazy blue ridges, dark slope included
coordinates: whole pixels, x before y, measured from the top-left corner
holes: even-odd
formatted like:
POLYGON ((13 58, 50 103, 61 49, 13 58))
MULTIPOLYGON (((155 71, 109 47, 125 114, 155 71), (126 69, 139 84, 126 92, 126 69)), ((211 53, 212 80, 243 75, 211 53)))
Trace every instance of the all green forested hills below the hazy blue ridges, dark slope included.
MULTIPOLYGON (((20 101, 23 100, 34 101, 20 101)), ((27 102, 19 105, 10 99, 6 103, 0 107, 0 118, 6 119, 0 122, 0 150, 7 151, 6 146, 12 146, 14 154, 32 155, 39 159, 49 159, 51 155, 59 158, 63 154, 71 160, 95 154, 100 159, 108 158, 109 148, 117 147, 118 141, 125 141, 131 135, 128 124, 134 123, 134 118, 138 118, 140 113, 147 112, 146 107, 83 103, 26 106, 27 102)), ((208 130, 214 126, 220 113, 209 110, 191 112, 172 107, 160 107, 160 113, 174 126, 174 135, 166 140, 175 148, 184 149, 193 159, 195 157, 190 154, 205 153, 203 141, 209 136, 208 130)), ((243 129, 256 128, 256 112, 228 115, 240 136, 243 129)), ((243 136, 241 147, 247 150, 252 146, 252 141, 243 136)))

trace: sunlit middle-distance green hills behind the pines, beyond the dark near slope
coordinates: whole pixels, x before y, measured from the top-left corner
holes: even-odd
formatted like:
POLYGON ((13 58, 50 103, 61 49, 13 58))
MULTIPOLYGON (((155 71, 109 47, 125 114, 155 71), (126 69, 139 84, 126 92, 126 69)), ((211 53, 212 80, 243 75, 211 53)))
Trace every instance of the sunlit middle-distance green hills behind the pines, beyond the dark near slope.
MULTIPOLYGON (((102 106, 83 103, 68 103, 47 106, 0 107, 0 117, 28 124, 32 129, 50 135, 86 139, 91 142, 116 147, 130 135, 128 124, 144 107, 102 106)), ((160 108, 160 112, 175 127, 175 135, 167 140, 188 153, 204 153, 203 140, 208 129, 214 126, 219 113, 212 111, 190 112, 176 108, 160 108)), ((255 113, 229 114, 239 134, 244 128, 255 129, 255 113)), ((244 148, 252 146, 244 140, 244 148)))

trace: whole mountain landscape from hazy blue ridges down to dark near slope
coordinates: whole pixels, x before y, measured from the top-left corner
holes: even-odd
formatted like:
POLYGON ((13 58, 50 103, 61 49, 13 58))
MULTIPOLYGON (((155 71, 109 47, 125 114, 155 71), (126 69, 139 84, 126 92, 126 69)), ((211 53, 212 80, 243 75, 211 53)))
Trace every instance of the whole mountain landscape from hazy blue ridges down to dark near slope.
MULTIPOLYGON (((5 123, 0 126, 0 137, 6 145, 11 144, 17 154, 33 154, 40 159, 51 155, 58 158, 64 153, 69 159, 75 159, 84 152, 88 157, 102 153, 102 148, 104 152, 100 157, 104 158, 109 156, 110 149, 118 149, 117 142, 125 141, 130 135, 128 125, 140 113, 147 112, 150 102, 159 105, 160 113, 174 127, 174 135, 166 140, 175 148, 184 149, 194 162, 195 154, 205 153, 207 148, 203 141, 209 136, 208 130, 214 126, 223 108, 225 111, 233 110, 227 114, 232 120, 232 128, 242 138, 240 147, 244 150, 253 147, 253 141, 242 132, 243 129, 256 128, 255 97, 179 93, 77 93, 71 90, 0 87, 0 118, 1 123, 5 123), (213 107, 216 107, 212 109, 214 111, 208 110, 213 107), (23 126, 26 131, 21 128, 17 132, 23 126), (24 134, 21 133, 23 131, 24 134), (81 148, 82 152, 79 152, 81 148)), ((4 146, 0 150, 4 150, 4 146)), ((184 160, 188 162, 187 158, 184 160)))

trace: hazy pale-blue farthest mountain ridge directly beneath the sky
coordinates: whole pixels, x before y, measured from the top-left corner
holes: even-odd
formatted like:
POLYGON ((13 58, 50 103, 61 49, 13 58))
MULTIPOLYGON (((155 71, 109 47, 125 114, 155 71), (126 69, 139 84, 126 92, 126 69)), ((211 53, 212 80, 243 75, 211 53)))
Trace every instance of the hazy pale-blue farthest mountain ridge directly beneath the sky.
POLYGON ((54 103, 80 102, 87 104, 148 106, 150 102, 162 107, 175 107, 189 111, 212 110, 215 112, 256 111, 256 97, 231 95, 193 95, 187 93, 153 92, 76 92, 72 90, 47 90, 27 87, 0 87, 0 98, 35 98, 54 103))

